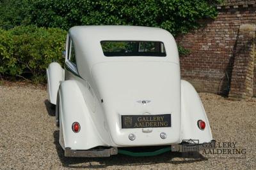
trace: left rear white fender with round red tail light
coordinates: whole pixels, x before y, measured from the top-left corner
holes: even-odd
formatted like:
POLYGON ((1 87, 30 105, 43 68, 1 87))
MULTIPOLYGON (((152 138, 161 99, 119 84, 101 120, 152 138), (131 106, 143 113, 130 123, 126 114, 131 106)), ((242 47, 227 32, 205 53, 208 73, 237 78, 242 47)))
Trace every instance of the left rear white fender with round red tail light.
POLYGON ((99 138, 99 133, 93 124, 92 113, 84 101, 76 80, 61 83, 60 97, 60 144, 63 149, 88 150, 95 146, 106 146, 99 138), (79 132, 72 131, 72 124, 78 122, 79 132))

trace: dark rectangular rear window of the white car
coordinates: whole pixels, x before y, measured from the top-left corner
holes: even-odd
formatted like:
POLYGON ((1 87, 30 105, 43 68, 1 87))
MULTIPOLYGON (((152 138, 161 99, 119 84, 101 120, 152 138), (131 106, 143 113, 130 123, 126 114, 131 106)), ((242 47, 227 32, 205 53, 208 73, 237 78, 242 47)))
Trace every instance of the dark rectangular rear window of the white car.
POLYGON ((100 45, 106 57, 166 56, 161 41, 100 41, 100 45))

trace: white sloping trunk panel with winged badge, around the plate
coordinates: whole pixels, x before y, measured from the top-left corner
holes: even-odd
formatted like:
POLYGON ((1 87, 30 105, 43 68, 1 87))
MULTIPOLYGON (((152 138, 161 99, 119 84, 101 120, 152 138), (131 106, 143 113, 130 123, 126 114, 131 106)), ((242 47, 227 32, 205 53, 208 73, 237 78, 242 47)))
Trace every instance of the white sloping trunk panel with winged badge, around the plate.
POLYGON ((111 138, 116 146, 164 145, 180 142, 180 74, 172 62, 103 62, 92 68, 92 78, 104 100, 111 138), (139 100, 150 100, 141 104, 139 100), (172 113, 172 127, 155 128, 150 133, 141 129, 121 129, 121 115, 172 113), (170 138, 161 139, 166 132, 170 138), (137 138, 130 141, 130 133, 137 138))

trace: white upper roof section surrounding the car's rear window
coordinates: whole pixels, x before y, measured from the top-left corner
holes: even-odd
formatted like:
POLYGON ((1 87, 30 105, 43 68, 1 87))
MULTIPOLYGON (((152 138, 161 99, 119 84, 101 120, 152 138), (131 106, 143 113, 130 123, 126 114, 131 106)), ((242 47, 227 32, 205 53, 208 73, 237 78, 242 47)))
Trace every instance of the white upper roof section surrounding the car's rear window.
MULTIPOLYGON (((179 54, 175 39, 170 32, 156 27, 125 25, 75 26, 68 31, 74 43, 77 64, 87 63, 89 67, 99 62, 112 61, 166 61, 179 64, 179 54), (100 41, 161 41, 166 57, 105 57, 100 41)), ((82 65, 82 64, 81 64, 82 65)))

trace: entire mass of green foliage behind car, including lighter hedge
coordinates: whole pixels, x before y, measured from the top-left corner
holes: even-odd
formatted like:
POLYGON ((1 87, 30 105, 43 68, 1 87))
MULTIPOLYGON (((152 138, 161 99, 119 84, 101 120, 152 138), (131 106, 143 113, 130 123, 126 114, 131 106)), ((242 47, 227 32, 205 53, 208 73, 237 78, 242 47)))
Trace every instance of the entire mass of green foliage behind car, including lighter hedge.
POLYGON ((0 0, 0 76, 45 81, 48 64, 62 60, 63 30, 74 25, 144 25, 177 36, 198 27, 199 19, 216 17, 214 4, 221 1, 0 0))

